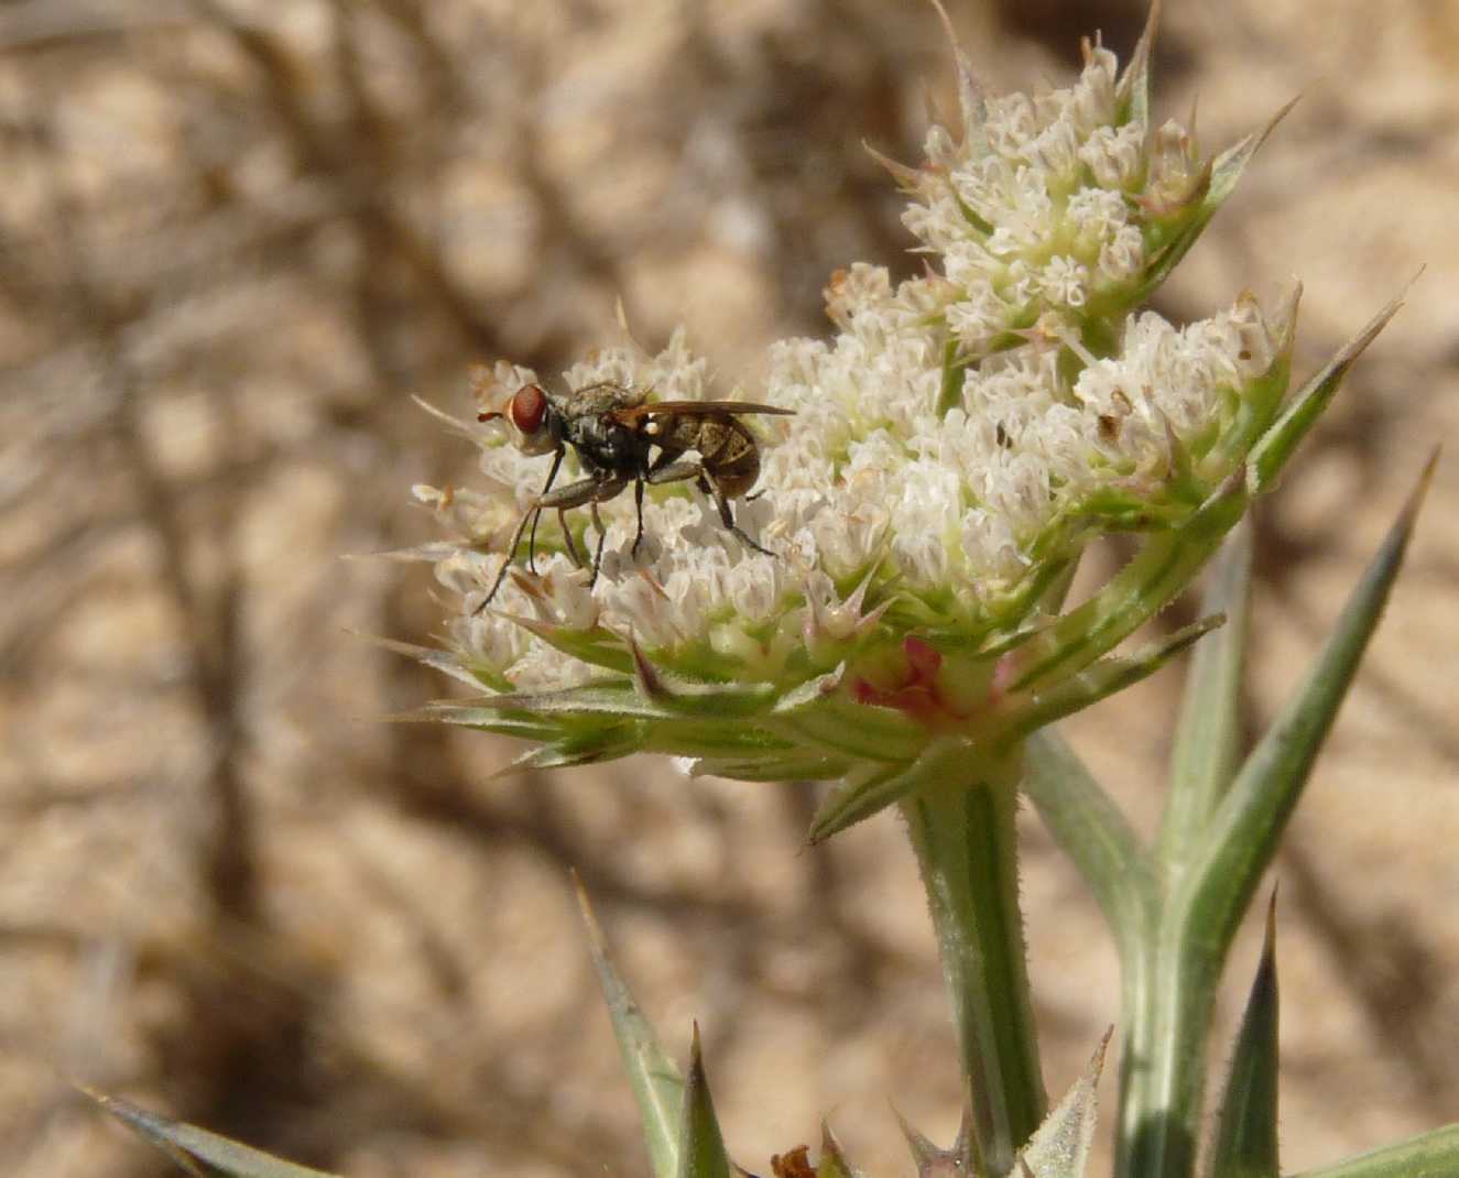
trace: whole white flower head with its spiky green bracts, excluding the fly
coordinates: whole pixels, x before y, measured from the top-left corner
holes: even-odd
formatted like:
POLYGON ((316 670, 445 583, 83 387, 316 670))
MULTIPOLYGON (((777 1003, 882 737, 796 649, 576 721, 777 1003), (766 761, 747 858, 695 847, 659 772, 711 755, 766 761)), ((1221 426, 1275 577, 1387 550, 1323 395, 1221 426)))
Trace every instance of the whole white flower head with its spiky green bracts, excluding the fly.
MULTIPOLYGON (((840 779, 824 837, 950 755, 1005 762, 1218 621, 1110 653, 1271 483, 1390 311, 1278 414, 1296 294, 1275 313, 1242 294, 1186 327, 1134 309, 1262 139, 1202 160, 1185 128, 1151 128, 1147 61, 1148 41, 1123 74, 1085 44, 1071 87, 986 98, 959 57, 960 120, 931 128, 921 168, 889 165, 926 273, 835 274, 836 334, 775 346, 753 397, 711 392, 683 332, 563 373, 568 389, 794 411, 744 418, 762 469, 735 523, 766 551, 690 480, 646 487, 636 551, 633 496, 598 504, 597 570, 572 558, 598 547, 591 513, 566 515, 570 537, 543 513, 528 566, 505 547, 549 459, 511 445, 509 421, 455 423, 489 490, 417 488, 457 538, 416 555, 461 596, 452 653, 432 660, 487 694, 426 714, 531 741, 521 765, 657 751, 696 773, 840 779), (1144 535, 1142 553, 1059 614, 1080 551, 1112 531, 1144 535), (518 567, 481 608, 503 561, 518 567)), ((480 408, 537 381, 498 363, 480 408)), ((569 448, 565 480, 578 459, 569 448)))

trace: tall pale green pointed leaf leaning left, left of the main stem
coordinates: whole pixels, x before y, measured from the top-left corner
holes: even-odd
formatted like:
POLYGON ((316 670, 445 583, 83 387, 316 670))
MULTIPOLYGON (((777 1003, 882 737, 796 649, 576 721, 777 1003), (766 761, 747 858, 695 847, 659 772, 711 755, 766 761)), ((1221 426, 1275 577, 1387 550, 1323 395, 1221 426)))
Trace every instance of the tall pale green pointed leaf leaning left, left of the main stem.
POLYGON ((608 1006, 613 1035, 619 1041, 623 1070, 629 1074, 633 1099, 639 1107, 649 1163, 654 1166, 655 1178, 674 1178, 678 1172, 678 1123, 684 1104, 684 1082, 674 1061, 658 1045, 654 1026, 633 999, 627 983, 608 961, 603 929, 576 872, 572 882, 578 892, 584 924, 588 926, 588 948, 592 952, 592 965, 598 971, 603 999, 608 1006))

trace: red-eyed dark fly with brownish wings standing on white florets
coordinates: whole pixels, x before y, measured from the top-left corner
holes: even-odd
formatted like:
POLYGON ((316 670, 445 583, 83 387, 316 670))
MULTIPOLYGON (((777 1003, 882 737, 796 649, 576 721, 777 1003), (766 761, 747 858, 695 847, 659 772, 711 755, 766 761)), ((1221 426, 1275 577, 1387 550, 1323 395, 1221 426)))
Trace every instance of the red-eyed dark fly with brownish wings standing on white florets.
POLYGON ((568 528, 566 513, 569 507, 588 506, 592 510, 598 547, 592 557, 591 586, 598 579, 607 535, 598 504, 622 494, 630 483, 638 510, 633 553, 643 539, 643 488, 692 478, 713 500, 728 531, 754 551, 773 555, 734 522, 730 509, 730 500, 743 497, 760 474, 759 443, 738 417, 747 413, 789 416, 795 411, 748 401, 649 401, 648 389, 639 392, 611 381, 598 381, 570 389, 560 398, 541 385, 522 385, 512 394, 505 413, 477 414, 479 421, 498 417, 511 421, 518 450, 527 455, 550 453, 553 459, 547 481, 518 522, 506 547, 506 560, 476 612, 484 609, 502 588, 528 529, 527 567, 535 572, 537 520, 549 507, 557 510, 568 555, 579 569, 584 567, 584 557, 568 528), (584 477, 553 490, 568 446, 578 455, 584 477), (697 458, 686 458, 689 453, 697 458))

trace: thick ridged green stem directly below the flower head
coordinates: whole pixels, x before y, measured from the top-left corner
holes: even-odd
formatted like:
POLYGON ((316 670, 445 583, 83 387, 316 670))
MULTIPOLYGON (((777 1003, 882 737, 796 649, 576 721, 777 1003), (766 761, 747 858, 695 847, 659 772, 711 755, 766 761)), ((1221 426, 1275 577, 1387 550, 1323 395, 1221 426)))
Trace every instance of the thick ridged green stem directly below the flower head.
POLYGON ((902 802, 922 869, 973 1126, 1001 1178, 1043 1121, 1048 1096, 1018 911, 1018 797, 1002 773, 902 802))

